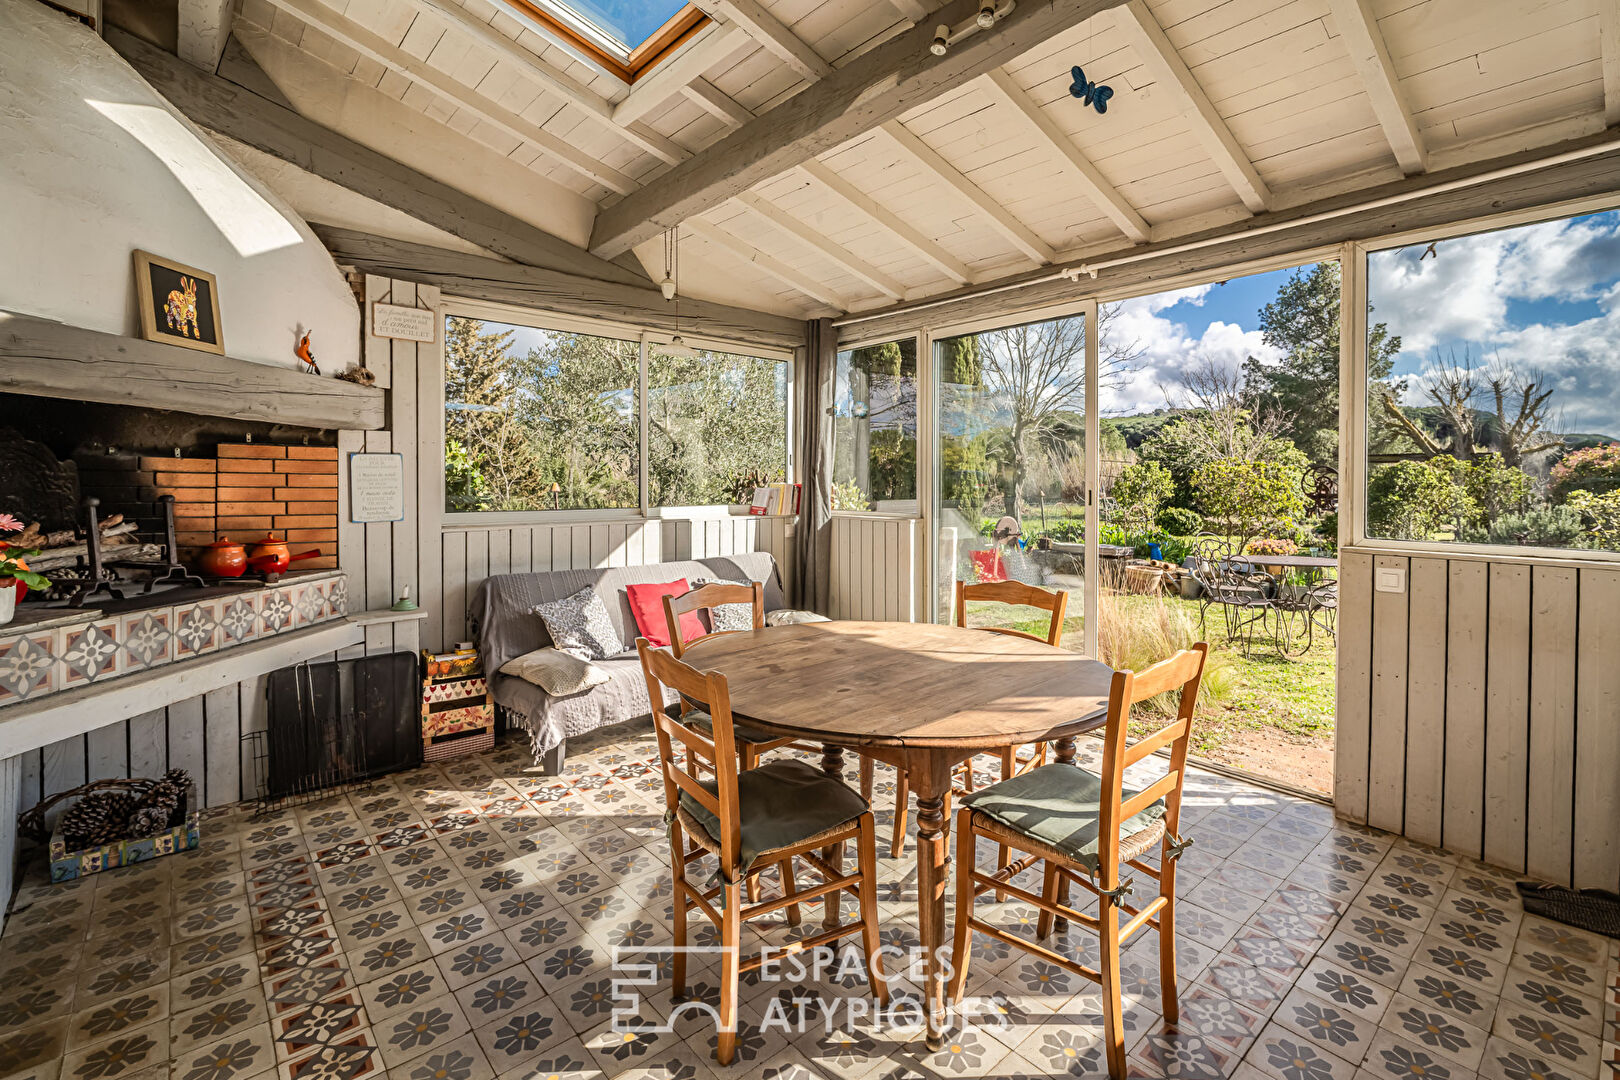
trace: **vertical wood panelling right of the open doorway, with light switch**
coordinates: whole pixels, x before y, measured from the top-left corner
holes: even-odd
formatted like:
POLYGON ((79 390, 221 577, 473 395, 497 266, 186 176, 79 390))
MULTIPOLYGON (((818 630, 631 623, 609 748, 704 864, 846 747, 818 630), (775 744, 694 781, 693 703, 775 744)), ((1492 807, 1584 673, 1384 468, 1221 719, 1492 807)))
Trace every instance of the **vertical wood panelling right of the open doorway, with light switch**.
POLYGON ((1338 813, 1620 887, 1620 568, 1346 549, 1340 606, 1338 813))

